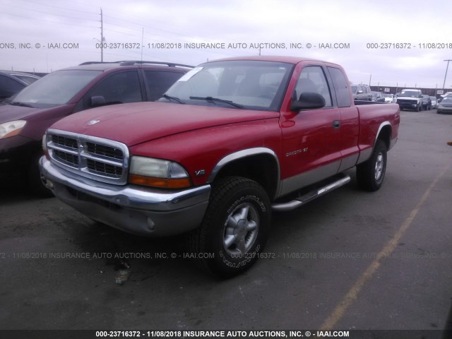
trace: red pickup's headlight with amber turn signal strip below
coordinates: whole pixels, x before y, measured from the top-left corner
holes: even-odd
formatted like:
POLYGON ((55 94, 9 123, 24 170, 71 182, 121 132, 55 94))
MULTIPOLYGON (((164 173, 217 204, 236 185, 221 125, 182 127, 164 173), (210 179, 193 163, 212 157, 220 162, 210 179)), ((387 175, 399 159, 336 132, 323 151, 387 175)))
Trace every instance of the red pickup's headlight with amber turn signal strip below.
POLYGON ((129 182, 131 184, 182 189, 191 186, 189 174, 177 162, 152 157, 132 157, 129 182))

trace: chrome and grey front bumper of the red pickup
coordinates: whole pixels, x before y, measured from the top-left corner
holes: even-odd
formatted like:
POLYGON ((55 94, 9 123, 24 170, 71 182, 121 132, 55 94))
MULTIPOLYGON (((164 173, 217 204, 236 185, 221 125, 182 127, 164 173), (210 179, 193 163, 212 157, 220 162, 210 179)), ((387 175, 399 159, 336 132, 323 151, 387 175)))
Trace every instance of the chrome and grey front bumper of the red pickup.
POLYGON ((162 237, 182 234, 201 225, 210 185, 182 191, 105 184, 68 172, 40 159, 47 187, 88 218, 132 234, 162 237))

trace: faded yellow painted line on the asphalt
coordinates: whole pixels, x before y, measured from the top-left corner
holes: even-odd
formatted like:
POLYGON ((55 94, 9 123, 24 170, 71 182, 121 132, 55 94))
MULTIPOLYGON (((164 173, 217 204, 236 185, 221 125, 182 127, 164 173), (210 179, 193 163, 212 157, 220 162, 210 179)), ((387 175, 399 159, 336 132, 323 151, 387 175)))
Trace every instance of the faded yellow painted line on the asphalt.
POLYGON ((335 307, 333 312, 328 316, 326 321, 322 323, 320 326, 320 329, 322 331, 328 331, 331 330, 338 321, 344 316, 345 311, 350 307, 350 305, 355 302, 357 299, 359 292, 361 292, 364 285, 367 283, 368 280, 374 275, 376 270, 379 269, 381 266, 381 258, 389 256, 394 249, 396 249, 398 242, 400 238, 403 236, 403 234, 408 230, 408 227, 410 227, 413 220, 415 220, 417 213, 419 212, 420 208, 424 204, 424 202, 429 197, 430 193, 432 192, 432 189, 436 185, 436 183, 443 177, 443 175, 447 172, 447 170, 451 167, 451 164, 449 164, 443 172, 441 172, 436 179, 434 179, 434 182, 430 184, 427 191, 425 191, 424 195, 422 196, 421 200, 417 203, 417 206, 414 210, 411 211, 410 215, 406 220, 403 222, 403 224, 400 226, 396 234, 393 235, 392 239, 383 247, 383 249, 377 254, 376 258, 372 263, 369 265, 367 270, 362 273, 362 275, 358 278, 356 283, 350 288, 347 295, 340 301, 340 303, 335 307))

